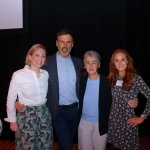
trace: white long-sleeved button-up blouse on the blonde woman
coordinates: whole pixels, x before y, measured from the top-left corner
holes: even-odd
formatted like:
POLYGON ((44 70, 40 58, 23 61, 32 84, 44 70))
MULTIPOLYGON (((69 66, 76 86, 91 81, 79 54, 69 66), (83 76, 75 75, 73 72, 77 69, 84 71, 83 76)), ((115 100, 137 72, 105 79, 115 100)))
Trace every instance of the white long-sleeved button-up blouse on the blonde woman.
POLYGON ((36 73, 25 65, 13 73, 7 96, 7 116, 5 121, 16 122, 16 99, 25 106, 39 106, 46 103, 48 90, 48 72, 40 69, 38 78, 36 73))

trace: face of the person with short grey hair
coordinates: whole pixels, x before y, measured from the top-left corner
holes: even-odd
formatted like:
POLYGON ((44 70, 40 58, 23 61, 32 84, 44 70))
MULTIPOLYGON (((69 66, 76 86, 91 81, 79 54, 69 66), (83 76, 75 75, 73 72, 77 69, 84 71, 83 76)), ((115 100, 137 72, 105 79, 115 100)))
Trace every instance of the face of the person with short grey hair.
POLYGON ((84 60, 84 68, 90 76, 97 76, 100 64, 94 57, 87 56, 84 60))

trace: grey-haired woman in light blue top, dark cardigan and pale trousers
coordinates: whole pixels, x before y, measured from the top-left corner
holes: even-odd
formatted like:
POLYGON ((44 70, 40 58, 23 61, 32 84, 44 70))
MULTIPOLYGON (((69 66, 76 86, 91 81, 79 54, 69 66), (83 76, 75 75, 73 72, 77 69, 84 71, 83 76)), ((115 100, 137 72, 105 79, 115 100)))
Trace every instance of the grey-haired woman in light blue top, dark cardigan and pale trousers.
POLYGON ((99 54, 87 51, 83 61, 88 76, 80 82, 78 146, 79 150, 105 150, 111 90, 105 77, 98 73, 99 54))

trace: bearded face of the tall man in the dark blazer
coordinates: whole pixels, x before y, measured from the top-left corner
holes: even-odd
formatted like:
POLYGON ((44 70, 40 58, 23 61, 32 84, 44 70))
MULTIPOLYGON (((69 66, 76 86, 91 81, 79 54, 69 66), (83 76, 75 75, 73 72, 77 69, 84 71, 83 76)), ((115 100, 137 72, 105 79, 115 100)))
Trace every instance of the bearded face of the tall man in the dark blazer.
POLYGON ((64 58, 67 58, 73 47, 73 38, 70 34, 60 35, 56 40, 56 46, 58 47, 58 54, 64 58))

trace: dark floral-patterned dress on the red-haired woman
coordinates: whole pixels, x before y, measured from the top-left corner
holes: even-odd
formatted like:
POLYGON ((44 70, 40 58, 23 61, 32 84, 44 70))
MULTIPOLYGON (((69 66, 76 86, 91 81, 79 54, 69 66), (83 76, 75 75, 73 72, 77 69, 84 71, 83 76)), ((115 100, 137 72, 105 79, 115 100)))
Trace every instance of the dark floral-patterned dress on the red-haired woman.
POLYGON ((139 134, 138 126, 127 125, 127 120, 135 117, 134 109, 128 105, 128 101, 135 99, 141 92, 147 99, 144 115, 150 114, 150 88, 145 84, 141 76, 133 78, 134 86, 130 91, 122 90, 121 86, 112 88, 112 106, 109 117, 107 143, 121 150, 138 150, 139 134))

